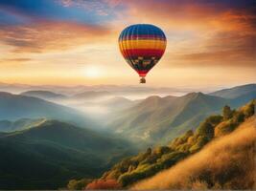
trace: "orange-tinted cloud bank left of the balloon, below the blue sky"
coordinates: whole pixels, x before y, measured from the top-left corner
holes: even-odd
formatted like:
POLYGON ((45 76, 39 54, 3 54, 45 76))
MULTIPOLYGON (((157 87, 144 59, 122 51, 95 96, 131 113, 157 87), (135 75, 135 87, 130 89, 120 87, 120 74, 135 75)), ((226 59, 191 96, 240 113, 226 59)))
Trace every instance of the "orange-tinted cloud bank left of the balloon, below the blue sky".
POLYGON ((105 40, 109 32, 102 26, 44 20, 27 25, 1 26, 0 42, 11 46, 14 53, 43 53, 105 40))

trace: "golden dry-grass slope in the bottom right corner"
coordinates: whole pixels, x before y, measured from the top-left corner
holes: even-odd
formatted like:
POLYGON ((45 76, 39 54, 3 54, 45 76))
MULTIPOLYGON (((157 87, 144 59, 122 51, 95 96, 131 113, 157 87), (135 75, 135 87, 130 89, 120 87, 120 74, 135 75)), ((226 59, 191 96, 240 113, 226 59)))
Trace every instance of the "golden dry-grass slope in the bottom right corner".
POLYGON ((256 189, 256 117, 132 189, 256 189))

